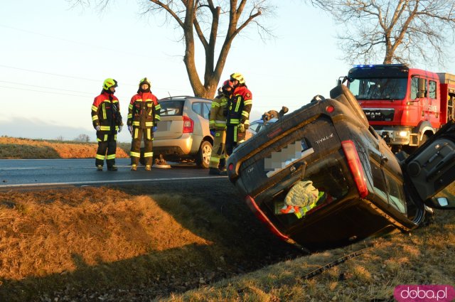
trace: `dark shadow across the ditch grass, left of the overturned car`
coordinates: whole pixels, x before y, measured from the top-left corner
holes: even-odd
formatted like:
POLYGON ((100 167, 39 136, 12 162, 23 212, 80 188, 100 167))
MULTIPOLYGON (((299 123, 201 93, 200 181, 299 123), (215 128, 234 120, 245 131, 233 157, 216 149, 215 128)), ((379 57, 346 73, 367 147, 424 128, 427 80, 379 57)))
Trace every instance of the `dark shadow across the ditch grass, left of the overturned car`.
POLYGON ((200 240, 163 250, 151 246, 137 257, 99 260, 95 264, 87 264, 81 254, 72 254, 73 271, 0 280, 0 301, 55 301, 58 297, 58 301, 62 297, 68 301, 97 301, 97 297, 142 301, 205 286, 304 254, 274 237, 254 217, 227 178, 186 180, 178 185, 127 185, 115 190, 130 196, 150 196, 178 222, 179 230, 189 231, 200 240))

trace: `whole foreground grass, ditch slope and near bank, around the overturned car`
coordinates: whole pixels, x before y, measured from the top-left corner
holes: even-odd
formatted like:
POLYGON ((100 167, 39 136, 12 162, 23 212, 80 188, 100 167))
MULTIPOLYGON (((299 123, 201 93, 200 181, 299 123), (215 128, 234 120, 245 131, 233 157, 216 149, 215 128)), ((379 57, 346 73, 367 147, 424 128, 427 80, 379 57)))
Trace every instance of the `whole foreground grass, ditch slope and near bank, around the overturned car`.
MULTIPOLYGON (((0 193, 0 301, 393 301, 399 284, 455 284, 454 212, 411 234, 304 255, 225 180, 196 188, 0 193)), ((455 185, 443 195, 454 198, 455 185)))

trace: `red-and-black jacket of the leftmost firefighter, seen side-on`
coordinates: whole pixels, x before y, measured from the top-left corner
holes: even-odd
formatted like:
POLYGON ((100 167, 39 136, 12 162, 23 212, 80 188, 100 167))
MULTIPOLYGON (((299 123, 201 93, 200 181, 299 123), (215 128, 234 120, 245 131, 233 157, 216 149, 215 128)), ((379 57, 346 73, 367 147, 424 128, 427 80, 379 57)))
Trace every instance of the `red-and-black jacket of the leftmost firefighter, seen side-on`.
POLYGON ((93 127, 101 127, 106 134, 117 134, 119 126, 123 126, 122 115, 120 114, 119 99, 107 92, 95 97, 92 104, 93 127))

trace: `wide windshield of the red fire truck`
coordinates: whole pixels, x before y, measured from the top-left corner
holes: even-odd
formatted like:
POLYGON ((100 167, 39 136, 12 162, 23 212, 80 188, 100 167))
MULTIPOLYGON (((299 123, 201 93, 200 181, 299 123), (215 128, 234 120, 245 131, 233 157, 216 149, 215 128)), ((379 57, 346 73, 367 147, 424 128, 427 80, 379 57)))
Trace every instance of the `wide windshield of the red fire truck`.
POLYGON ((356 99, 404 99, 407 90, 406 78, 353 79, 349 90, 356 99))

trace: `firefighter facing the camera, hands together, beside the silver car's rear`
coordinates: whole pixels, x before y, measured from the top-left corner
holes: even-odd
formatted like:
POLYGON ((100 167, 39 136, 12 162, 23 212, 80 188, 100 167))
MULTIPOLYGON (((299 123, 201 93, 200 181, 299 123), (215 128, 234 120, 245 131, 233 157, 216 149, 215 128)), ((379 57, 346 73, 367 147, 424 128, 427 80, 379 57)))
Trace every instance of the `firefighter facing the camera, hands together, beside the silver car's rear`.
POLYGON ((151 83, 144 77, 139 82, 139 90, 129 102, 128 107, 128 130, 132 134, 131 144, 131 170, 137 170, 139 157, 141 156, 141 141, 144 137, 144 160, 145 170, 151 171, 151 163, 154 157, 152 151, 154 132, 160 120, 161 106, 158 99, 150 91, 151 83))

